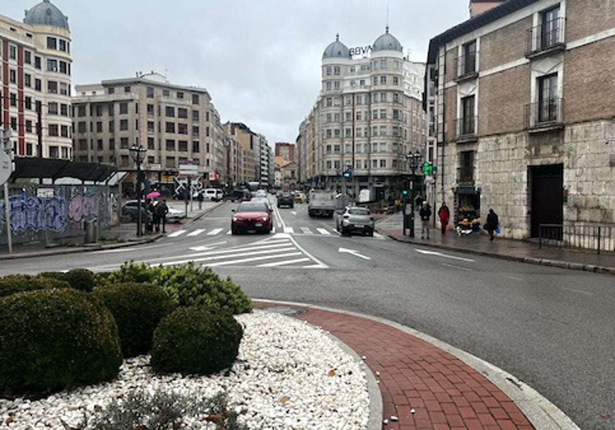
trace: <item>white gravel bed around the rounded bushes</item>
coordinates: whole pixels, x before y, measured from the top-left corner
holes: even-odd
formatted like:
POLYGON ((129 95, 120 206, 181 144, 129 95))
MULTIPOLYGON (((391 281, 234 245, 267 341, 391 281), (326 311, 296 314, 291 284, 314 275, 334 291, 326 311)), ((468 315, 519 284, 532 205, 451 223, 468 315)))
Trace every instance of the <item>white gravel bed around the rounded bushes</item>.
MULTIPOLYGON (((288 316, 254 311, 244 326, 230 372, 208 377, 156 376, 149 356, 124 361, 117 380, 63 391, 38 401, 0 399, 0 429, 60 429, 92 423, 96 411, 133 391, 164 389, 191 398, 228 394, 229 407, 250 429, 367 428, 369 398, 360 362, 321 329, 288 316), (85 421, 84 421, 85 420, 85 421), (7 423, 9 421, 9 423, 7 423)), ((214 429, 202 416, 186 429, 214 429)), ((88 427, 85 426, 85 429, 88 427)), ((121 429, 118 429, 121 430, 121 429)))

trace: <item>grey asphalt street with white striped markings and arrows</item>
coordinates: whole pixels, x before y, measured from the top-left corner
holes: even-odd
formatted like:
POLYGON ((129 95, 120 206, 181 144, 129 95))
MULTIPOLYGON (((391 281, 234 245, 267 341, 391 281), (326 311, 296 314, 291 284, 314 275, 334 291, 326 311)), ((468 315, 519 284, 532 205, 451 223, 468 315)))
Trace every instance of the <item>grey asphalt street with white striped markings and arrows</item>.
POLYGON ((154 243, 4 261, 0 275, 194 261, 253 298, 366 313, 439 338, 520 378, 581 428, 603 428, 614 413, 612 276, 340 236, 335 219, 310 218, 305 204, 275 208, 275 232, 231 235, 236 206, 154 243))

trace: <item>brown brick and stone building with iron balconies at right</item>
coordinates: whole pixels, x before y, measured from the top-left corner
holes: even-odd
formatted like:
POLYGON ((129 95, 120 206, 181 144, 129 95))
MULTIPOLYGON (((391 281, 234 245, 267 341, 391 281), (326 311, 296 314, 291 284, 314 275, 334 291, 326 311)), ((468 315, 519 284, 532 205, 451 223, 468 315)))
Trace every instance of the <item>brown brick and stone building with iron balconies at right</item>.
POLYGON ((437 205, 502 234, 615 222, 615 9, 509 0, 431 39, 437 205))

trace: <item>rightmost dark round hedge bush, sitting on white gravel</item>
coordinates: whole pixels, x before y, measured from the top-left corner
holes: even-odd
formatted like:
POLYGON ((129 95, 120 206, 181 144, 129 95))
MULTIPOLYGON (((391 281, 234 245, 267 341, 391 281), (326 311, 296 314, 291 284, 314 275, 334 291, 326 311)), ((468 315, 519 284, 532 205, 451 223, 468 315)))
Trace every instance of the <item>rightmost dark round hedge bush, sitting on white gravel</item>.
POLYGON ((216 308, 180 307, 165 316, 151 351, 155 372, 210 375, 237 358, 244 330, 230 313, 216 308))

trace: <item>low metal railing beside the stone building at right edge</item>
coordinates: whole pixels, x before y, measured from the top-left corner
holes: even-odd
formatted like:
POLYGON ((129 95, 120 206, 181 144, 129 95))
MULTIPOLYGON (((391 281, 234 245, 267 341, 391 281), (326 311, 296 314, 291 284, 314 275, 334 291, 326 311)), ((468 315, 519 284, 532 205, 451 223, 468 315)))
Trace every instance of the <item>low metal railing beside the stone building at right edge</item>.
POLYGON ((615 251, 615 225, 598 224, 540 224, 539 247, 542 245, 565 248, 593 249, 600 252, 615 251))

